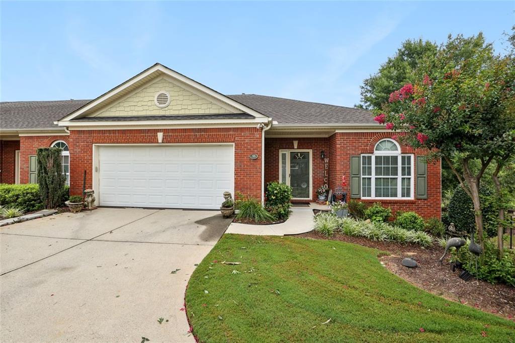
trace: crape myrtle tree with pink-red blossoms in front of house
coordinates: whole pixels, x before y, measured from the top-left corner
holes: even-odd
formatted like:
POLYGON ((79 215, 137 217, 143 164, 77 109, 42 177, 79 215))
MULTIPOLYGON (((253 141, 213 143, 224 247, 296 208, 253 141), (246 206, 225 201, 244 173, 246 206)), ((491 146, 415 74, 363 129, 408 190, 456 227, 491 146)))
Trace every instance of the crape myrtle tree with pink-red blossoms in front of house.
POLYGON ((375 121, 398 131, 401 142, 448 163, 472 198, 483 246, 479 181, 492 161, 513 154, 515 67, 513 54, 494 55, 481 35, 472 38, 449 36, 434 59, 420 63, 417 79, 375 111, 375 121))

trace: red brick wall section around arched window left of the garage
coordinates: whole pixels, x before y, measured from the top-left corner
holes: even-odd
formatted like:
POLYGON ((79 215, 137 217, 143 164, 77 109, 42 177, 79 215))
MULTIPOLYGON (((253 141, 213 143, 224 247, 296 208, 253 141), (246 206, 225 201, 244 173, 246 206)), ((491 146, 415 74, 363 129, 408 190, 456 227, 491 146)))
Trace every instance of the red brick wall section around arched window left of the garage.
MULTIPOLYGON (((20 183, 29 182, 29 156, 36 155, 38 148, 47 148, 55 141, 64 141, 70 146, 67 135, 20 137, 20 183)), ((72 158, 70 160, 73 163, 72 158)))

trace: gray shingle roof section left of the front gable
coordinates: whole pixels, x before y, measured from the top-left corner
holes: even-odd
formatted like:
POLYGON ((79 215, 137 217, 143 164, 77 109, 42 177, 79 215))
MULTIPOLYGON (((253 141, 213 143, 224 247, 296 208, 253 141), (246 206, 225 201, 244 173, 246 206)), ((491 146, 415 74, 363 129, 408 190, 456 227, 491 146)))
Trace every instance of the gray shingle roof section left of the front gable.
POLYGON ((0 129, 56 128, 54 122, 91 100, 0 102, 0 129))

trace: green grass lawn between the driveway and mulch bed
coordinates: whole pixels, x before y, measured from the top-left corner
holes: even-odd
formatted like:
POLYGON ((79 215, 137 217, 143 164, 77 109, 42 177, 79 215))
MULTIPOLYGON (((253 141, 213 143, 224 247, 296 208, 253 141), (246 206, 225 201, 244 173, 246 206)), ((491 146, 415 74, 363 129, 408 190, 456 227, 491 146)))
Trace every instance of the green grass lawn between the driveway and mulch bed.
POLYGON ((381 266, 379 253, 225 234, 186 291, 193 332, 201 342, 515 341, 515 323, 408 284, 381 266))

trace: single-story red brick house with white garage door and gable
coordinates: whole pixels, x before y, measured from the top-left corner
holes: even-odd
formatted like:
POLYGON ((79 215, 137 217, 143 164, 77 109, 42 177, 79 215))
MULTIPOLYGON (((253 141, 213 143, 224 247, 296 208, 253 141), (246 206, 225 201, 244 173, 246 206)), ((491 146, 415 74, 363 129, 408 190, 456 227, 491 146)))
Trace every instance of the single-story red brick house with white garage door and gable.
POLYGON ((345 176, 348 198, 440 217, 440 162, 392 136, 369 111, 223 95, 157 63, 93 100, 2 102, 0 182, 37 182, 57 146, 71 194, 100 206, 216 209, 274 180, 309 202, 345 176))

